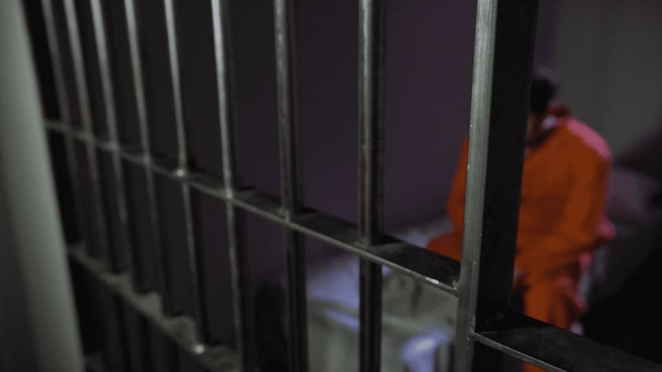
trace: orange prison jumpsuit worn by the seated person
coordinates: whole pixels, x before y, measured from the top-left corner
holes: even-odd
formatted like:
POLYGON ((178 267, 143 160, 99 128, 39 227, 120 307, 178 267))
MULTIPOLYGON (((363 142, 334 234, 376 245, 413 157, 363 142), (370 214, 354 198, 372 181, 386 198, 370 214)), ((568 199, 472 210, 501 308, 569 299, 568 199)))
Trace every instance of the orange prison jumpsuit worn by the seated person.
MULTIPOLYGON (((579 275, 594 249, 614 234, 603 215, 611 154, 605 141, 565 107, 554 107, 545 121, 552 121, 552 132, 524 161, 515 256, 522 276, 515 287, 528 316, 569 329, 584 310, 577 295, 579 275)), ((456 260, 462 247, 467 150, 465 140, 448 198, 454 230, 428 243, 428 249, 456 260)))

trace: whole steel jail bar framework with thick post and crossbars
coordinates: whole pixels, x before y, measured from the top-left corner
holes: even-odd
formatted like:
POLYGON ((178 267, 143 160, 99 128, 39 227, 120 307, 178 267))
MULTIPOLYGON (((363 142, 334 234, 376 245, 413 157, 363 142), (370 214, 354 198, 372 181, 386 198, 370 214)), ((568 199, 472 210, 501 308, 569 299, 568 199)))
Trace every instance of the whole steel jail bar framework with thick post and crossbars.
MULTIPOLYGON (((478 0, 476 43, 469 145, 469 172, 465 201, 465 231, 463 260, 458 262, 405 242, 383 236, 383 65, 384 65, 384 4, 376 0, 359 0, 359 224, 352 225, 333 216, 304 208, 301 205, 301 155, 296 102, 296 68, 294 35, 296 19, 294 0, 274 0, 276 69, 278 87, 279 143, 281 163, 281 197, 272 198, 259 190, 239 189, 234 153, 236 123, 234 121, 232 56, 228 1, 211 1, 214 32, 219 124, 223 153, 222 182, 210 175, 192 174, 188 167, 188 149, 181 108, 179 78, 180 50, 177 48, 177 17, 173 0, 162 0, 168 35, 170 83, 174 94, 177 130, 177 167, 170 169, 157 164, 150 152, 148 112, 142 86, 143 66, 134 0, 124 0, 133 87, 139 112, 141 153, 123 148, 117 134, 113 112, 112 74, 108 68, 112 52, 106 43, 103 23, 103 3, 91 1, 94 40, 99 60, 103 105, 109 136, 97 136, 92 130, 90 99, 81 51, 74 0, 42 0, 48 30, 48 42, 57 81, 61 123, 47 123, 46 130, 65 136, 68 165, 74 187, 83 186, 79 176, 76 144, 86 149, 87 172, 92 176, 92 203, 97 205, 94 219, 102 239, 108 236, 106 215, 100 206, 99 170, 93 154, 97 151, 112 156, 115 180, 123 178, 122 161, 144 170, 148 183, 150 216, 158 223, 157 200, 154 197, 153 176, 159 174, 176 180, 184 200, 187 247, 194 282, 196 323, 190 318, 172 318, 163 314, 154 293, 141 294, 130 285, 131 275, 114 273, 102 261, 106 247, 88 247, 87 252, 72 248, 70 255, 86 267, 101 282, 106 283, 121 298, 143 313, 168 334, 180 347, 192 353, 210 371, 252 369, 252 345, 246 342, 250 332, 245 282, 247 265, 241 236, 239 213, 250 213, 281 225, 285 230, 288 271, 288 363, 292 371, 308 370, 305 324, 305 250, 302 234, 350 252, 361 259, 360 309, 360 369, 379 371, 381 342, 381 269, 386 265, 405 273, 426 285, 459 297, 456 371, 494 371, 499 354, 512 355, 552 371, 660 371, 661 367, 622 351, 597 344, 548 324, 532 320, 507 309, 512 285, 514 240, 516 237, 519 188, 523 162, 523 144, 528 90, 532 66, 533 38, 537 1, 478 0), (53 3, 63 5, 70 50, 60 48, 57 17, 53 3), (74 87, 68 90, 63 65, 63 53, 71 52, 74 87), (68 92, 77 94, 70 99, 68 92), (76 105, 75 103, 78 103, 76 105), (72 125, 72 110, 83 119, 83 127, 72 125), (210 181, 211 180, 211 181, 210 181), (219 186, 220 185, 220 186, 219 186), (204 344, 204 327, 199 316, 202 296, 197 278, 197 252, 193 241, 193 220, 190 190, 195 189, 223 200, 228 216, 229 252, 234 297, 236 350, 204 344), (101 249, 101 251, 94 251, 101 249), (94 253, 94 254, 90 254, 94 253), (483 265, 481 265, 481 263, 483 265), (183 319, 183 320, 182 320, 183 319), (187 320, 188 319, 188 320, 187 320), (476 343, 487 348, 477 348, 476 343), (490 351, 485 351, 489 349, 490 351), (605 358, 608 355, 609 358, 605 358)), ((61 21, 61 20, 60 20, 61 21)), ((120 216, 126 215, 123 189, 118 192, 120 216)), ((81 200, 77 200, 82 205, 81 200)), ((126 220, 122 220, 126 221, 126 220)), ((81 221, 83 225, 83 221, 81 221)), ((154 229, 157 234, 158 229, 154 229)), ((158 236, 157 236, 158 238, 158 236)), ((107 239, 106 239, 107 240, 107 239)), ((87 242, 88 245, 90 242, 87 242)), ((159 247, 159 245, 156 245, 159 247)), ((156 251, 159 270, 165 270, 163 252, 156 251)), ((112 267, 111 267, 112 269, 112 267)), ((163 273, 161 273, 163 276, 163 273)), ((163 278, 160 278, 163 280, 163 278)), ((165 286, 164 286, 165 287, 165 286)), ((167 288, 166 288, 167 292, 167 288)), ((167 296, 167 293, 165 293, 167 296)))

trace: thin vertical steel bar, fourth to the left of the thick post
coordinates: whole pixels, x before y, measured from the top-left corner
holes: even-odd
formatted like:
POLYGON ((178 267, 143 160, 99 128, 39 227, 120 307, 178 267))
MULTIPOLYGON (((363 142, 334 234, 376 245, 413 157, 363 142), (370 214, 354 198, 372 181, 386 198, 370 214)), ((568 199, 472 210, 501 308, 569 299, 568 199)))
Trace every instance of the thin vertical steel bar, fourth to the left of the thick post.
MULTIPOLYGON (((177 127, 177 158, 179 161, 178 169, 175 170, 175 176, 185 178, 189 176, 188 151, 186 147, 186 132, 184 127, 184 118, 181 101, 181 84, 179 76, 179 59, 177 53, 177 25, 174 19, 173 0, 163 0, 165 9, 165 28, 168 34, 168 57, 170 59, 170 77, 172 80, 172 98, 174 101, 175 125, 177 127)), ((194 313, 197 319, 197 327, 202 325, 202 300, 201 280, 199 276, 198 255, 195 247, 195 236, 193 229, 193 216, 191 207, 191 191, 187 183, 181 183, 181 193, 183 198, 184 221, 186 228, 186 249, 188 251, 188 261, 191 272, 192 291, 194 298, 194 313)), ((200 329, 198 334, 201 335, 200 329)))

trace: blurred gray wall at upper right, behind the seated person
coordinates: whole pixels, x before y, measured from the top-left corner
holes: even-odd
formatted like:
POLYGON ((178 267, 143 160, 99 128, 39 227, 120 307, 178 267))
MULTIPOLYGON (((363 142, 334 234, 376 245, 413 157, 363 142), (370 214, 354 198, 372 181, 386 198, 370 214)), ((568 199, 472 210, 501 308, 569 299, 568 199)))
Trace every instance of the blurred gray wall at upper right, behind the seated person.
POLYGON ((557 2, 559 98, 619 156, 662 121, 662 2, 557 2))

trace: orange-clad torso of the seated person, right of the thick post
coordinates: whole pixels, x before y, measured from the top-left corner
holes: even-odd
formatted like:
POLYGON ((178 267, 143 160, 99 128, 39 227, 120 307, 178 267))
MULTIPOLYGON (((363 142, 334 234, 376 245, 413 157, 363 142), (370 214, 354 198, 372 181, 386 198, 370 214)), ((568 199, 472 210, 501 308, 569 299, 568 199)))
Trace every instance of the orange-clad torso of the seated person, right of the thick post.
POLYGON ((528 281, 578 263, 614 234, 603 215, 607 144, 565 107, 552 107, 545 121, 551 133, 527 152, 523 169, 515 267, 528 281))

